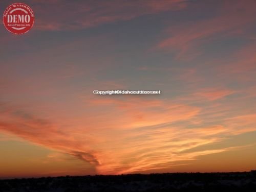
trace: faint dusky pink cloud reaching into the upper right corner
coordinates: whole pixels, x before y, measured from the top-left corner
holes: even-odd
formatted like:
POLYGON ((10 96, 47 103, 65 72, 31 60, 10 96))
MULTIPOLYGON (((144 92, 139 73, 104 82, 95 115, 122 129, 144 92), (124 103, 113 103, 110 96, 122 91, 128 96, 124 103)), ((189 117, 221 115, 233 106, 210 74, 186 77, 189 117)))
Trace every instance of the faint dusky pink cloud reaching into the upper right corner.
MULTIPOLYGON (((255 22, 255 1, 224 1, 216 15, 199 21, 182 23, 165 30, 169 37, 156 48, 176 53, 176 59, 190 60, 203 53, 200 45, 228 36, 244 35, 242 28, 255 22), (239 31, 239 32, 238 32, 239 31)), ((249 31, 247 31, 248 33, 249 31)))

